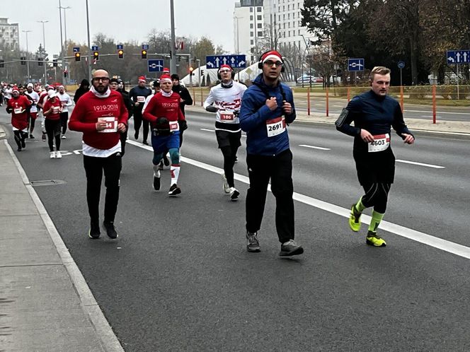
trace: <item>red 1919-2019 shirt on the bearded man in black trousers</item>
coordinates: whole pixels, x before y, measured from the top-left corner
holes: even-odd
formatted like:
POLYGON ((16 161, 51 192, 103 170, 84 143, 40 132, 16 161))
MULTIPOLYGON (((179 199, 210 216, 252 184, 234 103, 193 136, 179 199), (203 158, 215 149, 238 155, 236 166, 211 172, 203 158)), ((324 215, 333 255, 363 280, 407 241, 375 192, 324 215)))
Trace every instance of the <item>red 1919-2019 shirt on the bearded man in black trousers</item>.
POLYGON ((69 129, 84 133, 84 142, 93 148, 110 149, 119 142, 119 132, 96 131, 99 117, 115 117, 118 124, 127 125, 127 109, 121 93, 111 90, 108 98, 98 98, 88 91, 76 102, 71 113, 69 129))

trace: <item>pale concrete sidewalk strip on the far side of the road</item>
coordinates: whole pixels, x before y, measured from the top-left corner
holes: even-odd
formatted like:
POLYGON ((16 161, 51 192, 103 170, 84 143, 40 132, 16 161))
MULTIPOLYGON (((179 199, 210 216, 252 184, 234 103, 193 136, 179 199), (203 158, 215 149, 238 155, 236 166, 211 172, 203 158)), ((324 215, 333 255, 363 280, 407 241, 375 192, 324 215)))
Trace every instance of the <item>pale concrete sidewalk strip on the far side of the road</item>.
MULTIPOLYGON (((189 112, 206 112, 204 108, 200 106, 200 102, 198 105, 185 107, 185 110, 189 112)), ((207 114, 210 114, 210 112, 207 112, 207 114)), ((306 112, 297 112, 296 121, 334 124, 336 119, 338 119, 338 114, 329 114, 327 117, 325 114, 318 112, 311 112, 311 115, 307 115, 306 112)), ((470 134, 470 121, 445 121, 441 119, 436 124, 432 124, 432 119, 405 118, 405 123, 411 131, 426 131, 440 134, 470 134)))

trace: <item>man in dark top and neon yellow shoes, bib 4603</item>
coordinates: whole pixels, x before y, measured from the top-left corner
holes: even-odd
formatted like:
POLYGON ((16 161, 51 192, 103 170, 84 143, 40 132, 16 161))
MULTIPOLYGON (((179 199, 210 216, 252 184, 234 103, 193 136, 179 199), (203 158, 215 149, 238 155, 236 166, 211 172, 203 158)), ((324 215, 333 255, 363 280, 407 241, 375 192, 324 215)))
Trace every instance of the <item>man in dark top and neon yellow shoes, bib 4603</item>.
POLYGON ((413 144, 415 138, 403 121, 399 102, 387 95, 390 88, 390 69, 376 66, 370 72, 371 90, 357 95, 341 112, 336 129, 354 137, 352 156, 357 177, 365 194, 351 206, 349 225, 358 232, 362 211, 371 206, 372 219, 366 235, 367 245, 385 247, 377 234, 384 218, 386 203, 395 176, 395 156, 391 150, 391 127, 403 143, 413 144), (354 127, 350 124, 354 121, 354 127))

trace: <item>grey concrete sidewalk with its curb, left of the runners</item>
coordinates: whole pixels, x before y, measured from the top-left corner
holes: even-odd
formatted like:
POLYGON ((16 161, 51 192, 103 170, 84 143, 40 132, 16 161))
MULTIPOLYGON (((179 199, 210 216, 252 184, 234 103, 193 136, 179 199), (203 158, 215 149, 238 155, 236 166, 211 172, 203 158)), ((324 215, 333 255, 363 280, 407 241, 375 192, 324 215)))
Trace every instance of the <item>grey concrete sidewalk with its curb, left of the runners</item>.
POLYGON ((0 351, 123 351, 0 126, 0 351))

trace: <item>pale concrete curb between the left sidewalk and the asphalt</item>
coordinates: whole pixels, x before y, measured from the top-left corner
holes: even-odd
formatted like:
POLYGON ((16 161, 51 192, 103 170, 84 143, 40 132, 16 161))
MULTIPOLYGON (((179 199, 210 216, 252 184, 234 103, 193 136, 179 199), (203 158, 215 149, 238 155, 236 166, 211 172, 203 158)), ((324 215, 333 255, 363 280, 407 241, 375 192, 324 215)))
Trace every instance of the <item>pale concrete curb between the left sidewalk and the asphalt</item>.
MULTIPOLYGON (((0 127, 1 128, 1 127, 0 127)), ((107 352, 124 352, 117 336, 114 334, 113 329, 111 329, 108 320, 103 315, 100 306, 96 302, 93 293, 91 292, 88 284, 84 276, 81 274, 79 267, 76 265, 74 259, 71 257, 69 253, 69 249, 65 245, 62 237, 60 237, 57 228, 55 228, 52 219, 50 218, 49 214, 47 213, 45 206, 42 204, 38 194, 35 192, 35 189, 30 184, 28 176, 26 175, 25 170, 21 166, 18 158, 16 158, 15 153, 13 153, 13 149, 8 144, 7 141, 4 141, 6 144, 6 148, 8 149, 8 153, 10 153, 11 158, 13 158, 13 163, 16 165, 18 172, 21 175, 21 180, 23 184, 25 184, 26 189, 28 189, 28 193, 30 194, 31 199, 35 204, 36 209, 38 209, 38 213, 47 229, 47 233, 49 233, 52 242, 56 247, 57 253, 59 254, 60 259, 62 260, 62 264, 64 265, 65 269, 67 269, 67 273, 69 274, 69 278, 71 283, 74 286, 74 289, 79 296, 81 307, 83 308, 86 316, 91 322, 93 329, 96 332, 96 336, 101 343, 104 351, 107 352)))

